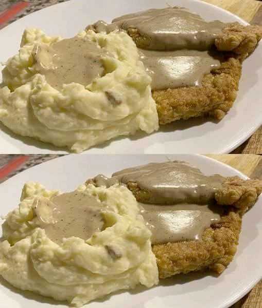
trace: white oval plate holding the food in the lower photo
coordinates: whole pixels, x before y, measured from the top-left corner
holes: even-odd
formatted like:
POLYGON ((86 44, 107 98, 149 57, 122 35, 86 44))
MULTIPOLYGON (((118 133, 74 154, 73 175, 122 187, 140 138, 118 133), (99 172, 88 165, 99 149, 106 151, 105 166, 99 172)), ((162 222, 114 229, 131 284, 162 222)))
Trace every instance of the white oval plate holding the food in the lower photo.
MULTIPOLYGON (((97 174, 111 176, 122 168, 161 162, 183 160, 199 167, 205 174, 219 173, 223 176, 246 176, 228 165, 199 155, 69 155, 27 169, 0 185, 0 215, 17 207, 21 189, 26 181, 38 181, 48 189, 74 190, 86 179, 97 174)), ((219 276, 208 274, 178 275, 165 279, 149 290, 137 287, 130 292, 119 292, 99 301, 93 301, 90 308, 226 308, 244 296, 262 276, 262 198, 243 218, 238 251, 228 268, 219 276), (211 304, 212 302, 212 304, 211 304)), ((0 237, 2 234, 0 233, 0 237)), ((0 280, 3 283, 3 279, 0 280)), ((51 308, 65 307, 65 304, 22 292, 0 284, 0 308, 51 308)))

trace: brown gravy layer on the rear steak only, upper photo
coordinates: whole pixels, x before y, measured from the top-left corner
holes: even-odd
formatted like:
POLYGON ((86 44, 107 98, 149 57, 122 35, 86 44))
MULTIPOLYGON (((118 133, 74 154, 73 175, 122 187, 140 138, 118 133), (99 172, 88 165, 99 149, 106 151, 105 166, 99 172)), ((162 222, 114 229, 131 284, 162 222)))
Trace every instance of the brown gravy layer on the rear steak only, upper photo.
MULTIPOLYGON (((226 24, 206 22, 185 8, 150 9, 120 16, 113 20, 120 29, 137 29, 149 38, 150 50, 208 50, 226 24)), ((112 26, 111 26, 112 27, 112 26)))

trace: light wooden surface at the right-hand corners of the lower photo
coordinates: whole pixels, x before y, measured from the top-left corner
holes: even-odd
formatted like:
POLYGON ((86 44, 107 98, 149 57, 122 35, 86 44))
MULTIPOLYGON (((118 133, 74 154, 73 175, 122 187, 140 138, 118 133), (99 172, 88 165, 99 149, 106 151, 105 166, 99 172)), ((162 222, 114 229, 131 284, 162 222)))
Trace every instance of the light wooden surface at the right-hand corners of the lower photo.
MULTIPOLYGON (((251 179, 258 178, 262 180, 262 157, 259 155, 227 154, 207 156, 232 166, 251 179)), ((262 280, 249 294, 241 298, 231 308, 262 308, 262 280)))

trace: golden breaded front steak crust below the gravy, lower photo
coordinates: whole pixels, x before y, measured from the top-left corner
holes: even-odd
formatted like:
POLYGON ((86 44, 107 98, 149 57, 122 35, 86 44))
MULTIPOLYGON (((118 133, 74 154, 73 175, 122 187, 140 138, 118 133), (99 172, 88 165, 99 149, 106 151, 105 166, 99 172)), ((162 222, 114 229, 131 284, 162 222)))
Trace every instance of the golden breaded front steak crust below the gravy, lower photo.
POLYGON ((240 229, 241 218, 231 211, 219 223, 207 228, 201 241, 153 245, 159 277, 204 269, 220 274, 236 253, 240 229))

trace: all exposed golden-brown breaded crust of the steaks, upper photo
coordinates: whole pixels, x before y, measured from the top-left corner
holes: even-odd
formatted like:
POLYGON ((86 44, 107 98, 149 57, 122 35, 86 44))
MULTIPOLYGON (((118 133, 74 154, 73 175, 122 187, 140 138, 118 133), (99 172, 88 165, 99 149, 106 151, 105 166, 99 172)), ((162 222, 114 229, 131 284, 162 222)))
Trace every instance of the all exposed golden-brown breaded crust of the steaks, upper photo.
MULTIPOLYGON (((129 28, 127 32, 138 48, 147 49, 149 37, 142 36, 133 28, 129 28)), ((204 76, 201 87, 152 91, 159 123, 167 124, 201 116, 221 120, 236 99, 241 62, 254 51, 261 37, 261 26, 228 24, 215 40, 217 50, 221 51, 222 65, 204 76)))

